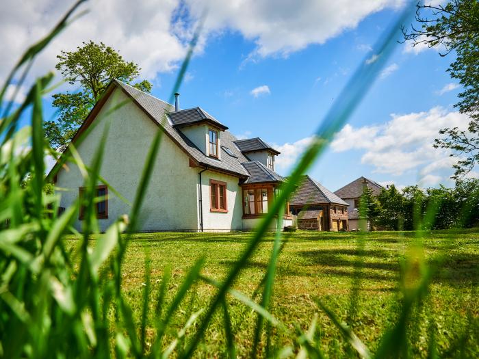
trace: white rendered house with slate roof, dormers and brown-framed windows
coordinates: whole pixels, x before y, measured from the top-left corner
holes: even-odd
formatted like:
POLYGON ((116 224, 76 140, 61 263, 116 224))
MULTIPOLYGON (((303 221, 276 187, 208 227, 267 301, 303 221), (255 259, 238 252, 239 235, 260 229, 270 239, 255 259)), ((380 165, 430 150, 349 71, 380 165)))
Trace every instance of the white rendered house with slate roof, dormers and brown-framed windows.
MULTIPOLYGON (((127 201, 99 184, 96 204, 101 230, 129 213, 151 142, 163 131, 139 230, 230 231, 253 229, 268 212, 285 178, 274 172, 277 150, 259 138, 236 139, 200 107, 179 109, 114 80, 81 125, 72 143, 84 163, 94 159, 107 129, 101 176, 127 201), (84 134, 81 142, 79 137, 84 134)), ((67 149, 68 151, 68 149, 67 149)), ((81 196, 84 185, 73 163, 49 174, 61 207, 81 196)), ((81 212, 81 211, 80 211, 81 212)), ((81 215, 75 227, 81 229, 81 215)), ((283 226, 292 224, 289 213, 283 226)), ((276 224, 274 224, 276 226, 276 224)), ((273 229, 273 228, 272 228, 273 229)))

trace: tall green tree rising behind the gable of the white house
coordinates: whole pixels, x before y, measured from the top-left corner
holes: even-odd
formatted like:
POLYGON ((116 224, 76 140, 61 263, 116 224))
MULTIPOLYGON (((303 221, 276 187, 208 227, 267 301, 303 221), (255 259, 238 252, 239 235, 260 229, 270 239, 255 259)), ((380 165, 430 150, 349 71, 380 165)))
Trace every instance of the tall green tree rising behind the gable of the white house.
MULTIPOLYGON (((53 148, 64 150, 83 120, 101 98, 101 94, 113 79, 131 83, 140 75, 140 68, 126 62, 110 46, 103 42, 83 42, 75 51, 62 51, 55 66, 71 85, 80 85, 78 92, 53 95, 53 106, 58 118, 44 122, 47 138, 53 148)), ((151 92, 150 82, 143 80, 133 86, 151 92)))

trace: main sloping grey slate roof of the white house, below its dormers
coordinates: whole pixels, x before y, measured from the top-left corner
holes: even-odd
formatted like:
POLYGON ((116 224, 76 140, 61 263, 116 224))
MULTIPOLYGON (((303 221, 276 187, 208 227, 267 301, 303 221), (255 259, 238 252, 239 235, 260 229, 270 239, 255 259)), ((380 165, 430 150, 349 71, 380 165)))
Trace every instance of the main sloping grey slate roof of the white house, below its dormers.
MULTIPOLYGON (((194 158, 200 165, 207 166, 209 168, 218 169, 226 172, 230 172, 240 177, 249 176, 248 171, 243 167, 242 162, 247 162, 248 159, 244 157, 241 151, 239 151, 234 145, 236 137, 229 131, 221 133, 221 144, 229 148, 237 158, 231 157, 226 153, 224 149, 221 149, 221 160, 214 159, 205 155, 199 150, 193 142, 190 141, 179 129, 170 124, 166 118, 166 113, 172 114, 174 112, 174 106, 161 101, 159 98, 146 94, 136 88, 133 88, 126 83, 114 80, 114 83, 122 88, 129 96, 131 96, 138 105, 146 111, 147 114, 155 120, 161 127, 163 127, 169 137, 183 148, 188 155, 194 158)), ((161 153, 159 154, 161 156, 161 153)))

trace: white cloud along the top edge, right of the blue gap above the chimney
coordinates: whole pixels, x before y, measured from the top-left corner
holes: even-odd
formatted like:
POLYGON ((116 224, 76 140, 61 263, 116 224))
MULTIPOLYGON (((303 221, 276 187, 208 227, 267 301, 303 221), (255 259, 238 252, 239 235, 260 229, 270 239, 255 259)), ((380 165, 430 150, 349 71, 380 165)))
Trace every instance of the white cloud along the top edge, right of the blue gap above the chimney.
POLYGON ((257 44, 255 54, 287 55, 309 44, 323 44, 366 16, 398 8, 404 0, 186 0, 194 14, 207 8, 205 27, 239 31, 257 44))

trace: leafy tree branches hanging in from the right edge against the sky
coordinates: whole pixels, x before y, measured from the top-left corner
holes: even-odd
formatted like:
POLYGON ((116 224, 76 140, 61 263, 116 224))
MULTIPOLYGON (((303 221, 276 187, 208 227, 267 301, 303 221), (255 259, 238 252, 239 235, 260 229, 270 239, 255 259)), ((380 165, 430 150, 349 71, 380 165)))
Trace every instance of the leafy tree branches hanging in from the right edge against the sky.
POLYGON ((479 2, 477 0, 452 0, 446 5, 417 3, 416 21, 421 26, 403 28, 404 39, 413 46, 438 47, 446 56, 452 51, 456 59, 448 72, 463 85, 463 92, 455 107, 471 117, 467 131, 445 128, 435 140, 436 148, 453 150, 459 157, 454 165, 454 178, 470 172, 479 162, 479 2))

